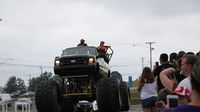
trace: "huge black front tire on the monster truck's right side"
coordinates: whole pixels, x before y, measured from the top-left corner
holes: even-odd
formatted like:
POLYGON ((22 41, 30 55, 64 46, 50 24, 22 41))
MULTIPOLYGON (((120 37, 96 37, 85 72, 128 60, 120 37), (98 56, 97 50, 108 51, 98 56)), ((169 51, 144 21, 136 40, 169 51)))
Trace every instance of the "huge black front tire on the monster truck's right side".
POLYGON ((96 100, 99 112, 116 112, 120 110, 119 84, 114 78, 105 77, 98 81, 96 100))

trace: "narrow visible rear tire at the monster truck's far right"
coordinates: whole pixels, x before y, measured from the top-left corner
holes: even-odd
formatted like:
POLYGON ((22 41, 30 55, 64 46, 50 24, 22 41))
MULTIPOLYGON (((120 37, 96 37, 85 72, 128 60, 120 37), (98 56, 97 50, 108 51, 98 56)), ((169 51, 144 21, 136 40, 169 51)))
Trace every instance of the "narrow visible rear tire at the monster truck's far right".
POLYGON ((130 109, 131 100, 130 100, 130 89, 126 82, 122 82, 120 85, 121 89, 121 98, 122 98, 122 108, 121 111, 128 111, 130 109))

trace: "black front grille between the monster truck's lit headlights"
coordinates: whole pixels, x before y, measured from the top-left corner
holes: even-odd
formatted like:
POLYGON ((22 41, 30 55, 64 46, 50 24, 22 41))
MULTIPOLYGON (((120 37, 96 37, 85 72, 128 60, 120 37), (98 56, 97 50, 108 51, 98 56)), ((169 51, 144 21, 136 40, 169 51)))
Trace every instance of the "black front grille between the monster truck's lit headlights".
POLYGON ((62 65, 87 64, 85 57, 62 58, 62 65))

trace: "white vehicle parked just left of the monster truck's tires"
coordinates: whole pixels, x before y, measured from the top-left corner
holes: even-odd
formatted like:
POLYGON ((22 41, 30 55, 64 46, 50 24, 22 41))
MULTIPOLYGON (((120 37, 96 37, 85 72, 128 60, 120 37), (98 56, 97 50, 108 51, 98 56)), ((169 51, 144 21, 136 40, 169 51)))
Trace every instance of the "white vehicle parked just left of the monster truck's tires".
POLYGON ((32 101, 29 98, 19 98, 15 102, 15 106, 17 109, 29 109, 32 108, 32 101))

